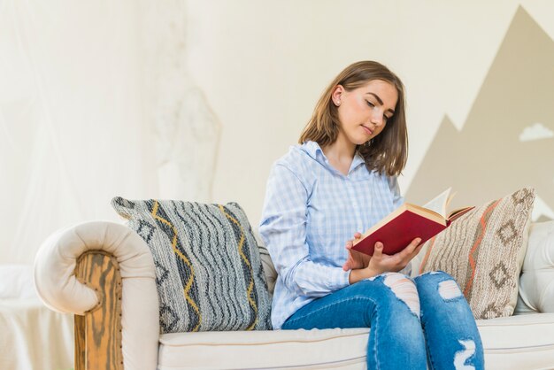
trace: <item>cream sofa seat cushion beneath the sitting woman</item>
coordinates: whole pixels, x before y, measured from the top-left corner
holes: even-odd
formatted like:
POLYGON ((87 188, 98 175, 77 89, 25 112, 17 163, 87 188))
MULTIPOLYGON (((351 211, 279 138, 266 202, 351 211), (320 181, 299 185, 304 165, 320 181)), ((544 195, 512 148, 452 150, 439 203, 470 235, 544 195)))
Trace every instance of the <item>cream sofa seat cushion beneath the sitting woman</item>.
MULTIPOLYGON (((554 313, 477 320, 488 370, 554 368, 554 313)), ((159 370, 365 369, 369 329, 173 333, 159 370)))

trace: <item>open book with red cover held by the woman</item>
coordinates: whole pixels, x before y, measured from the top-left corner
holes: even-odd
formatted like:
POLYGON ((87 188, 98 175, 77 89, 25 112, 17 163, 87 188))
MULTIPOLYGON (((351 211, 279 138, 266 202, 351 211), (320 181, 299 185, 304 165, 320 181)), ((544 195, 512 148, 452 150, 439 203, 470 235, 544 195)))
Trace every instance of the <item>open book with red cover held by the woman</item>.
POLYGON ((427 242, 439 234, 450 222, 458 219, 474 207, 465 207, 446 213, 454 194, 451 188, 424 206, 404 203, 389 216, 369 228, 358 241, 354 242, 352 250, 373 255, 375 243, 383 243, 384 254, 395 254, 404 250, 415 238, 421 238, 421 243, 427 242))

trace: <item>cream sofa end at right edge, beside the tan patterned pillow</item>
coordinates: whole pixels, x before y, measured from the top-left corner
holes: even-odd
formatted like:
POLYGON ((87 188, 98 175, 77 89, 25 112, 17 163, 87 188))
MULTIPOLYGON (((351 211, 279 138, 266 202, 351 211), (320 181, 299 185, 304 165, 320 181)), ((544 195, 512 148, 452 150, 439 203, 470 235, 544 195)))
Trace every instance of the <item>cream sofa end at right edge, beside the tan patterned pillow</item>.
POLYGON ((554 312, 554 221, 529 229, 516 312, 554 312))

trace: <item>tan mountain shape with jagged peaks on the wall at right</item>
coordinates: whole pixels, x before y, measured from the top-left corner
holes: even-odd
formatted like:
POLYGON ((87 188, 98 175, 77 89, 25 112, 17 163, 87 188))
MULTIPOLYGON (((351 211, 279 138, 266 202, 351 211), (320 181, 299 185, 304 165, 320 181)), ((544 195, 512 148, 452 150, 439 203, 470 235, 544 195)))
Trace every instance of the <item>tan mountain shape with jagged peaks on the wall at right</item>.
POLYGON ((458 192, 455 208, 532 186, 550 208, 540 220, 548 220, 554 210, 552 131, 554 42, 519 7, 464 127, 458 131, 447 116, 442 119, 406 199, 424 204, 451 186, 458 192), (526 127, 542 134, 527 139, 526 127))

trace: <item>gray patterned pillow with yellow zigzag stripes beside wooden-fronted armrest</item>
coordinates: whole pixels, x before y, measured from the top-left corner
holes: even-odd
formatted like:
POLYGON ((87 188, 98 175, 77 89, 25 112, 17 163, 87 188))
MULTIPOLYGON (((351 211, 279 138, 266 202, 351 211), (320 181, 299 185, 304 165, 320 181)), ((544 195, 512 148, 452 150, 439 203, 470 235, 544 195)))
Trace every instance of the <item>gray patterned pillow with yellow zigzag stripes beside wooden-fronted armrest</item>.
POLYGON ((114 197, 112 206, 152 252, 162 334, 271 329, 258 244, 238 204, 114 197))

